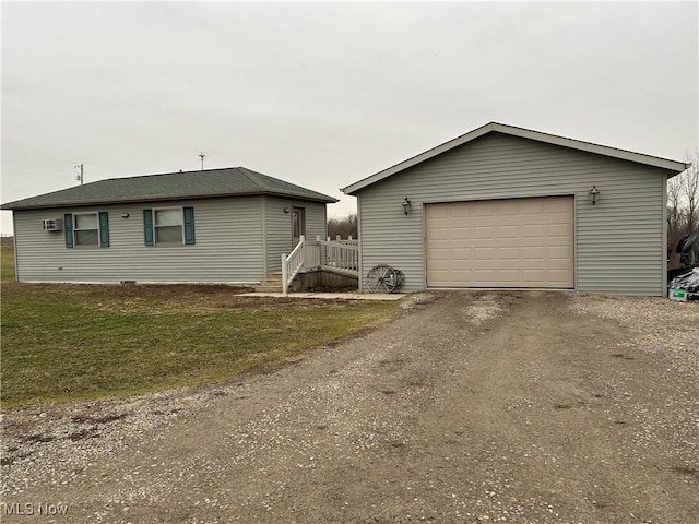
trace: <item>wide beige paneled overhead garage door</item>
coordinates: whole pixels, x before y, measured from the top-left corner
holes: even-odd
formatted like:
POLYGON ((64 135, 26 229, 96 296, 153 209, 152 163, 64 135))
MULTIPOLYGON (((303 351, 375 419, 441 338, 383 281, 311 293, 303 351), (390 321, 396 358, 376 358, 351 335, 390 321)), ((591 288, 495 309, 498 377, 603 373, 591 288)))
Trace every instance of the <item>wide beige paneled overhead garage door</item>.
POLYGON ((573 199, 425 206, 429 287, 573 287, 573 199))

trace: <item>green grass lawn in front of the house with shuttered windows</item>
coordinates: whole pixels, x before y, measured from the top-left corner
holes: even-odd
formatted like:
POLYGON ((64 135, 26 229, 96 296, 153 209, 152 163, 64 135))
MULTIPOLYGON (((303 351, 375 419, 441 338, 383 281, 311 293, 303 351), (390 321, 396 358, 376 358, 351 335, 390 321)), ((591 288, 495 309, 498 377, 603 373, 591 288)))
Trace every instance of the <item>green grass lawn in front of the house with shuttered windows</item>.
POLYGON ((246 298, 222 286, 17 284, 4 271, 3 281, 3 407, 225 379, 398 312, 395 302, 246 298))

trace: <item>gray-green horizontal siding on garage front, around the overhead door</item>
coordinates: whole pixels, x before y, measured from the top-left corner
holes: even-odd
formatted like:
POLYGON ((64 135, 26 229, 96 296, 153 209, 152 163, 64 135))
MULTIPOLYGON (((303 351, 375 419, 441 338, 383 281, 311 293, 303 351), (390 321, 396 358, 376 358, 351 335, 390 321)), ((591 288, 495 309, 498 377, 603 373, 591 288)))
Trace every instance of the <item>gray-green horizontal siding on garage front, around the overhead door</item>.
POLYGON ((489 133, 357 192, 362 275, 376 264, 425 287, 423 204, 573 195, 576 289, 664 294, 666 172, 640 164, 489 133), (592 206, 588 191, 601 190, 592 206), (401 203, 407 196, 411 213, 401 203))

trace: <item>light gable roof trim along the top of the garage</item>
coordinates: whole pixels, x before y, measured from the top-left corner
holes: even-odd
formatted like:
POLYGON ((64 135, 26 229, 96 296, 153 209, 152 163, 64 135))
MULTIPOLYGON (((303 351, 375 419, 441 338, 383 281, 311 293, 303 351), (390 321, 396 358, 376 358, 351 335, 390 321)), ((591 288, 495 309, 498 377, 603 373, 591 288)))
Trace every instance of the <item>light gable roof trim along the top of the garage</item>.
POLYGON ((682 172, 689 167, 689 164, 685 164, 682 162, 668 160, 666 158, 644 155, 641 153, 633 153, 631 151, 619 150, 606 145, 593 144, 591 142, 582 142, 580 140, 566 139, 565 136, 558 136, 556 134, 542 133, 541 131, 532 131, 531 129, 524 128, 516 128, 514 126, 507 126, 505 123, 490 122, 482 126, 481 128, 474 129, 466 134, 457 136, 449 142, 445 142, 437 147, 433 147, 431 150, 420 153, 419 155, 413 156, 407 160, 403 160, 400 164, 389 167, 388 169, 383 169, 382 171, 371 175, 370 177, 359 180, 358 182, 347 186, 341 191, 345 194, 354 194, 357 191, 366 188, 367 186, 371 186, 372 183, 383 180, 384 178, 395 175, 396 172, 407 169, 408 167, 413 167, 422 162, 440 155, 441 153, 446 153, 447 151, 450 151, 454 147, 463 145, 467 142, 471 142, 472 140, 478 139, 491 132, 520 136, 522 139, 536 140, 538 142, 545 142, 553 145, 560 145, 573 150, 585 151, 599 155, 612 156, 624 160, 630 160, 639 164, 645 164, 648 166, 659 167, 661 169, 667 169, 671 171, 675 171, 676 174, 682 172))

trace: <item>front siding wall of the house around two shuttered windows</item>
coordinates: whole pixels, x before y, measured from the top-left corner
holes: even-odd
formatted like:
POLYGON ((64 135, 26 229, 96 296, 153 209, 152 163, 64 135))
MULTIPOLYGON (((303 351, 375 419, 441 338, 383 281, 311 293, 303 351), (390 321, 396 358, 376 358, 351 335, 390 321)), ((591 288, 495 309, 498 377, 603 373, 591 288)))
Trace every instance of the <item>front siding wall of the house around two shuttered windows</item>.
POLYGON ((261 196, 182 200, 97 207, 15 211, 21 282, 225 282, 264 276, 261 196), (145 246, 143 210, 193 206, 196 245, 145 246), (63 231, 42 229, 63 213, 108 212, 108 248, 66 248, 63 231), (128 218, 122 214, 128 213, 128 218))

